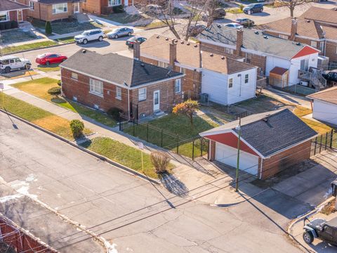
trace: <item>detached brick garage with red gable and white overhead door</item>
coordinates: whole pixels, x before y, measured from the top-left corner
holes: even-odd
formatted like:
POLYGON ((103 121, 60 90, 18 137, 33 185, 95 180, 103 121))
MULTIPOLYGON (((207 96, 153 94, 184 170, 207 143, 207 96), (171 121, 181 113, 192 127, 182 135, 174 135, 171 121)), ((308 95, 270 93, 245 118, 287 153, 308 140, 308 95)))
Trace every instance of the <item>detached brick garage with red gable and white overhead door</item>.
MULTIPOLYGON (((200 134, 211 141, 210 160, 237 167, 238 124, 237 120, 200 134)), ((239 169, 267 179, 310 158, 315 136, 317 133, 288 109, 244 117, 239 169)))

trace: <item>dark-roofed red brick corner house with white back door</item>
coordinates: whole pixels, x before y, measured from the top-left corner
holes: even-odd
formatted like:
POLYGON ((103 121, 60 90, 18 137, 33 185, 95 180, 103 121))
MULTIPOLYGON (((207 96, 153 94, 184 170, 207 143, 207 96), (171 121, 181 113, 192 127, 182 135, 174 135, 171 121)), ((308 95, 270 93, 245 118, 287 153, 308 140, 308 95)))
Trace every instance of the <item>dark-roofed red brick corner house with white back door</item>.
POLYGON ((80 50, 60 66, 63 95, 99 110, 141 118, 183 100, 184 74, 117 53, 80 50))

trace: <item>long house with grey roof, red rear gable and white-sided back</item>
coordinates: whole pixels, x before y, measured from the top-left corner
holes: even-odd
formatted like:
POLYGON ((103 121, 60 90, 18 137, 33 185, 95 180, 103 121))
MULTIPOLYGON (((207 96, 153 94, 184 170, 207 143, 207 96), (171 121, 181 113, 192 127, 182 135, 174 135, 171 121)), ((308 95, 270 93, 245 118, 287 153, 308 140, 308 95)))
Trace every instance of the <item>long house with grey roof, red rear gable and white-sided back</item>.
POLYGON ((318 49, 251 29, 211 25, 197 39, 201 42, 201 50, 225 51, 242 56, 246 63, 259 67, 259 74, 267 77, 275 67, 289 70, 288 86, 300 82, 300 70, 308 72, 310 67, 317 67, 318 49))

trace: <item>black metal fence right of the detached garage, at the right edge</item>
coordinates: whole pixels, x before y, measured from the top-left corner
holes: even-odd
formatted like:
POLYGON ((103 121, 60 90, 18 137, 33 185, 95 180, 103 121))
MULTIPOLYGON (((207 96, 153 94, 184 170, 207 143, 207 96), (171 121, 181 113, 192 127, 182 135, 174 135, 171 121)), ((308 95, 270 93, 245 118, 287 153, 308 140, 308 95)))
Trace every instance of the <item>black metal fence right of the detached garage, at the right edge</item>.
POLYGON ((318 155, 324 150, 337 149, 337 131, 331 129, 311 140, 311 155, 318 155))

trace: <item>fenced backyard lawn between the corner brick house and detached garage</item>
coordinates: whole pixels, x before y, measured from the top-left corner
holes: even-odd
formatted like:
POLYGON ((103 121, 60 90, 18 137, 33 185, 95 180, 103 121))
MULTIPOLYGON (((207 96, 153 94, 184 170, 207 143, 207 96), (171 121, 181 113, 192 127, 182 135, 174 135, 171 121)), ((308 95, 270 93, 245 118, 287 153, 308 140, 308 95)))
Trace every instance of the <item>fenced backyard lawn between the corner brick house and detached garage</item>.
MULTIPOLYGON (((177 151, 177 143, 179 142, 178 153, 187 157, 192 157, 192 138, 198 137, 201 131, 218 126, 215 122, 199 116, 194 116, 194 124, 191 126, 190 120, 187 117, 174 114, 154 119, 148 124, 148 131, 147 124, 135 126, 131 124, 124 131, 149 143, 175 152, 177 151), (162 134, 161 129, 163 129, 162 134)), ((203 145, 203 151, 204 154, 207 153, 206 143, 203 145)), ((194 157, 199 157, 200 155, 201 143, 198 140, 194 143, 194 157)))

